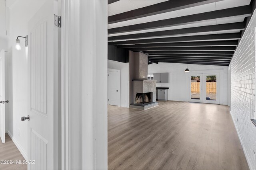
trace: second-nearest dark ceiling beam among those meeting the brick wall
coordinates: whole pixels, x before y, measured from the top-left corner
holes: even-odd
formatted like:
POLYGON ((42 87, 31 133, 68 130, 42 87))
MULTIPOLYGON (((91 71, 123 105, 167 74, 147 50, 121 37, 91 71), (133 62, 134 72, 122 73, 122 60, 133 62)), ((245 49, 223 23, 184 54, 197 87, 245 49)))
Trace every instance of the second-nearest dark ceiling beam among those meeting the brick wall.
POLYGON ((202 27, 191 27, 191 28, 182 28, 182 29, 172 29, 166 31, 154 31, 148 33, 136 33, 136 34, 128 34, 128 35, 117 35, 108 37, 108 41, 116 41, 116 40, 127 40, 127 39, 143 39, 148 37, 162 37, 162 36, 178 36, 178 35, 186 35, 193 33, 207 33, 207 32, 215 32, 215 31, 241 31, 244 30, 246 26, 245 22, 236 22, 236 23, 225 23, 219 25, 207 25, 202 27))

